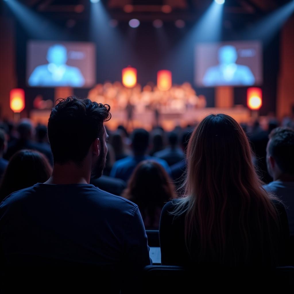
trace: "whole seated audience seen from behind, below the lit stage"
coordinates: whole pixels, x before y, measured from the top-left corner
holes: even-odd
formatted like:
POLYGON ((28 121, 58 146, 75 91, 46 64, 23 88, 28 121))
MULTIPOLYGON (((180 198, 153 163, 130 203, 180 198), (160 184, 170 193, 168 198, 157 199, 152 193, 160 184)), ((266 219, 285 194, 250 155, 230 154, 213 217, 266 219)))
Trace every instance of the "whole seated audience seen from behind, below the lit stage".
POLYGON ((163 265, 293 265, 292 119, 264 128, 211 114, 168 133, 110 131, 109 119, 108 104, 68 97, 48 128, 1 123, 6 265, 125 266, 137 275, 152 262, 148 229, 159 230, 163 265))

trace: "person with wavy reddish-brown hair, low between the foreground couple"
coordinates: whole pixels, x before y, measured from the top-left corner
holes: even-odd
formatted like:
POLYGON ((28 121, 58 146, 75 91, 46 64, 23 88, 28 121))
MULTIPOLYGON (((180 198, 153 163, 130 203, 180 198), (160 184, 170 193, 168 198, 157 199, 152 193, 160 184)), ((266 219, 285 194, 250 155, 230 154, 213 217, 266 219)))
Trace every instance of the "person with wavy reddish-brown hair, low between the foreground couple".
POLYGON ((158 230, 161 209, 176 194, 165 169, 155 161, 146 160, 135 168, 122 196, 139 206, 146 230, 158 230))

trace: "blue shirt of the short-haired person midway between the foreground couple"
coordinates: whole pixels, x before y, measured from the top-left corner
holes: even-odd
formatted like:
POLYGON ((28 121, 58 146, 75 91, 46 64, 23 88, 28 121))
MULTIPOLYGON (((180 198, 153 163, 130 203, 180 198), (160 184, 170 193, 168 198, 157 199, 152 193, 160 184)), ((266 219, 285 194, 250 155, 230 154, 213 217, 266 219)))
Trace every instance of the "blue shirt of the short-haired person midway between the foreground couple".
POLYGON ((119 178, 127 182, 136 166, 143 160, 154 160, 157 163, 161 164, 169 175, 171 174, 171 169, 165 160, 157 157, 143 155, 128 156, 126 158, 116 161, 111 169, 109 176, 113 178, 119 178))

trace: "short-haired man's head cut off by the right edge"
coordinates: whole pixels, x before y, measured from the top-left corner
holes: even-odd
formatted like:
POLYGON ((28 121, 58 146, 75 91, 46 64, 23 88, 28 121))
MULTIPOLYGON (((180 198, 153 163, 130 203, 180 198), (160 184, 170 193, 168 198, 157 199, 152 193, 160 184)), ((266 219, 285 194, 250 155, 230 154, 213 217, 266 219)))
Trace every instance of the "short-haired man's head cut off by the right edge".
POLYGON ((294 130, 275 128, 269 135, 268 153, 284 174, 294 175, 294 130))

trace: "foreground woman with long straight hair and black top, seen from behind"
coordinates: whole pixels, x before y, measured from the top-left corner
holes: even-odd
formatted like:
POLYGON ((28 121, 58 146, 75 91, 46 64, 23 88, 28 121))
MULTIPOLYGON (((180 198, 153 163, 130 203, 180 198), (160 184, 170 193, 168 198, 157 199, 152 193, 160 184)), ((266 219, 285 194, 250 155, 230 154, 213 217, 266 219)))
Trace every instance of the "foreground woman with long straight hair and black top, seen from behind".
POLYGON ((161 213, 162 265, 211 267, 218 274, 283 265, 287 214, 262 188, 240 125, 225 114, 204 118, 189 140, 187 163, 184 197, 161 213))

